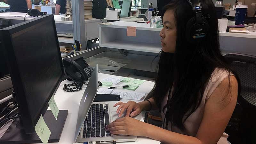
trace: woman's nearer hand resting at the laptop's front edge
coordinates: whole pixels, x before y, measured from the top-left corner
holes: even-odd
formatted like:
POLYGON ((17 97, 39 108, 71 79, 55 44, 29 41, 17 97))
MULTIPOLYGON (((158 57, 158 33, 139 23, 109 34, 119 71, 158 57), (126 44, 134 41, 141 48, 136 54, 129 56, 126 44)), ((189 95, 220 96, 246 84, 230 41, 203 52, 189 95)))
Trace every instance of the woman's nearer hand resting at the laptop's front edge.
POLYGON ((125 116, 108 124, 106 128, 111 134, 146 136, 149 125, 148 123, 125 116))

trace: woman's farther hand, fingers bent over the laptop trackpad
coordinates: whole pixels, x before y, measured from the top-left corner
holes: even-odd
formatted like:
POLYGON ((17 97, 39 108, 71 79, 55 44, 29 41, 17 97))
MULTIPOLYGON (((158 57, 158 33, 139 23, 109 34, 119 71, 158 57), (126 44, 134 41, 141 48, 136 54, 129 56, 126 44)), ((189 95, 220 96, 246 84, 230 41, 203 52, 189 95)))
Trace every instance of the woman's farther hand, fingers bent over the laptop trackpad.
POLYGON ((131 117, 139 115, 142 111, 140 104, 137 102, 134 102, 134 101, 128 101, 127 103, 123 103, 120 101, 120 102, 116 103, 114 105, 114 107, 116 107, 118 105, 120 105, 116 110, 116 113, 119 113, 118 117, 122 116, 125 109, 127 109, 125 116, 130 116, 130 114, 131 114, 131 117), (133 112, 131 113, 131 111, 133 111, 133 112))

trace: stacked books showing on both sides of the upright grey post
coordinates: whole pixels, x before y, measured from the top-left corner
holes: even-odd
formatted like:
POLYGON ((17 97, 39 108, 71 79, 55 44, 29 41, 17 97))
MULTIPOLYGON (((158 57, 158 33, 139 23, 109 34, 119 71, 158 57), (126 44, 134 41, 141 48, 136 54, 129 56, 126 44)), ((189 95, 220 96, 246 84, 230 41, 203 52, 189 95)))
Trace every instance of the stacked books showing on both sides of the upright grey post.
MULTIPOLYGON (((69 8, 71 5, 68 4, 68 0, 67 0, 67 6, 66 6, 67 14, 70 14, 69 8)), ((73 10, 72 12, 74 13, 73 10)), ((92 19, 92 0, 84 0, 84 19, 85 20, 92 19)))

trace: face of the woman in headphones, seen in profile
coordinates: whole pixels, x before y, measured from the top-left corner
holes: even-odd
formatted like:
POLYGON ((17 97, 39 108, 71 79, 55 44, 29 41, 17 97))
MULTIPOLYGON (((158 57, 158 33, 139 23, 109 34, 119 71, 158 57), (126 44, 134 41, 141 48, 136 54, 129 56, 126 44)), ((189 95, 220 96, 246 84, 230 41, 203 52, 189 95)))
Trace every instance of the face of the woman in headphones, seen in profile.
POLYGON ((167 10, 163 17, 164 28, 160 32, 161 45, 164 52, 175 52, 176 47, 176 26, 174 22, 174 12, 167 10))

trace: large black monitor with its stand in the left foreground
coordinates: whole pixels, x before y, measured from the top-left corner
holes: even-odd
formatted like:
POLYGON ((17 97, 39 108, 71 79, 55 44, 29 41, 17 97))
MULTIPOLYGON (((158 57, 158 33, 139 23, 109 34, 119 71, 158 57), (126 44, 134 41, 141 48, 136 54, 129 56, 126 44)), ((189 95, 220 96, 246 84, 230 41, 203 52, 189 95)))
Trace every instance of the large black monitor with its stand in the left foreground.
POLYGON ((68 110, 60 110, 57 120, 46 112, 64 76, 53 15, 1 29, 0 40, 20 115, 1 143, 41 143, 35 133, 41 115, 52 132, 49 142, 58 142, 68 110))

